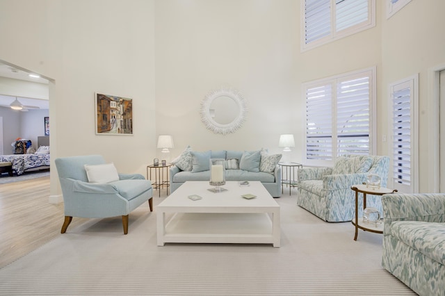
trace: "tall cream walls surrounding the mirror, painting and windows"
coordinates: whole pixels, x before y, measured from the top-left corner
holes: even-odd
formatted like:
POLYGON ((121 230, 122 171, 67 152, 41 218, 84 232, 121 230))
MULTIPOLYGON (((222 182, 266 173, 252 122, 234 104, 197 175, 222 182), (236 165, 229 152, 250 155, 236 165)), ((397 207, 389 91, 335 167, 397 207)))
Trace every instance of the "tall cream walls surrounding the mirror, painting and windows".
MULTIPOLYGON (((419 72, 420 190, 427 191, 426 73, 445 62, 445 2, 412 1, 389 20, 376 2, 375 28, 300 53, 300 1, 0 0, 2 25, 13 28, 0 31, 0 59, 55 80, 51 155, 100 153, 121 171, 141 173, 160 156, 156 138, 164 133, 174 137, 172 156, 186 145, 275 152, 280 134, 293 133, 292 158, 300 161, 301 83, 373 65, 382 135, 388 83, 419 72), (200 102, 220 86, 240 90, 248 103, 248 120, 234 134, 215 135, 200 121, 200 102), (94 92, 133 98, 133 136, 95 135, 94 92)), ((380 138, 378 154, 389 155, 380 138)))

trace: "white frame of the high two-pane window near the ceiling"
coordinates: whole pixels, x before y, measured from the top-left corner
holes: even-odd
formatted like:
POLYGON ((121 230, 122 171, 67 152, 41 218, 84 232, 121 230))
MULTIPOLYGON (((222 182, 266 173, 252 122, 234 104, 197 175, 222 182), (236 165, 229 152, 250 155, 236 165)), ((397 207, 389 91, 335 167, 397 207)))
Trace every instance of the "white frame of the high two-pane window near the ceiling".
POLYGON ((330 26, 330 34, 318 39, 314 40, 313 42, 306 43, 306 10, 305 10, 305 3, 306 0, 300 1, 300 19, 301 19, 301 25, 300 25, 300 38, 301 38, 301 51, 307 51, 309 49, 314 49, 316 47, 319 47, 323 44, 327 44, 330 42, 333 42, 335 40, 339 40, 341 38, 345 38, 349 35, 353 35, 355 33, 359 33, 361 31, 367 30, 369 28, 375 27, 375 0, 367 0, 368 1, 368 19, 366 22, 362 22, 359 24, 355 24, 354 26, 350 26, 348 28, 345 28, 339 32, 336 32, 334 30, 335 28, 335 1, 336 0, 330 0, 330 15, 331 15, 331 26, 330 26))

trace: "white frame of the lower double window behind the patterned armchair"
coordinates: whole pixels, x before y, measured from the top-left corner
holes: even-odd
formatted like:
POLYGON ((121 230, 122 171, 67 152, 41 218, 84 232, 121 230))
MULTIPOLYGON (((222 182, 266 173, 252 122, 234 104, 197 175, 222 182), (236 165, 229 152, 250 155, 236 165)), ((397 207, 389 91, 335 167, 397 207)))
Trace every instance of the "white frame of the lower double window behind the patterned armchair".
POLYGON ((345 81, 347 79, 353 79, 353 77, 361 76, 369 77, 369 154, 376 153, 376 67, 368 67, 365 69, 359 69, 353 72, 346 72, 343 74, 337 74, 335 76, 330 76, 325 79, 318 79, 316 81, 308 81, 302 83, 302 97, 305 98, 305 108, 307 109, 307 90, 312 88, 321 87, 322 85, 332 85, 332 99, 330 104, 332 106, 332 124, 331 135, 332 135, 332 159, 309 159, 307 158, 307 112, 302 118, 302 126, 305 126, 305 131, 302 133, 302 142, 304 143, 304 148, 302 149, 302 159, 305 165, 309 166, 327 166, 332 167, 337 156, 337 85, 339 81, 345 81), (335 146, 335 147, 334 147, 335 146))

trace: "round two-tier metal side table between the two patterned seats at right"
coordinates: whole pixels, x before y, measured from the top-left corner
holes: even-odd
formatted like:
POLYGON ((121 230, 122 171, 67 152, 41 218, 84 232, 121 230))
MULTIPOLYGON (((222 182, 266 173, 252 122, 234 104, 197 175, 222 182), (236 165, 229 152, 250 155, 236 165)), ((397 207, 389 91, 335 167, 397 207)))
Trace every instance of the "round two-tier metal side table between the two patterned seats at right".
POLYGON ((366 186, 366 183, 357 184, 351 186, 351 189, 355 191, 355 217, 351 221, 355 226, 355 236, 354 240, 357 240, 357 235, 359 229, 363 229, 364 231, 370 231, 373 233, 383 233, 383 223, 378 227, 372 227, 368 224, 363 224, 363 220, 359 221, 359 192, 363 194, 363 209, 366 208, 366 195, 387 195, 389 193, 397 192, 397 189, 389 189, 389 188, 371 188, 366 186))

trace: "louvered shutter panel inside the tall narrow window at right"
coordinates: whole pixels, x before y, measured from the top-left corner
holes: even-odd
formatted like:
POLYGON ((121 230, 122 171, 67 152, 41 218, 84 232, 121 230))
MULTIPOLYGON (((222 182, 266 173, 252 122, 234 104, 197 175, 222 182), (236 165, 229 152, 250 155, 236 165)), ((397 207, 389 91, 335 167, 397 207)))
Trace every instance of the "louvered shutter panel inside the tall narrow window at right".
POLYGON ((392 94, 394 183, 411 186, 411 86, 397 85, 392 94))

